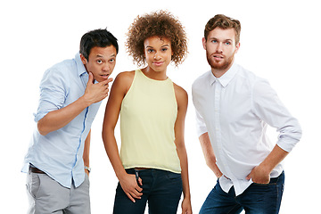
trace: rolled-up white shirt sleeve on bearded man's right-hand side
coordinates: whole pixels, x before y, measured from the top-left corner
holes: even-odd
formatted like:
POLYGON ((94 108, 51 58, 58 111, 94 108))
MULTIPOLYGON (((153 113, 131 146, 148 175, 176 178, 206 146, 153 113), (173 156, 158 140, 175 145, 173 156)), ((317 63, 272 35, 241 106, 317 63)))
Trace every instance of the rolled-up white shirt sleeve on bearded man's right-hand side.
POLYGON ((302 130, 298 119, 292 117, 267 80, 259 78, 255 82, 252 103, 255 114, 279 132, 276 144, 291 152, 300 141, 302 130))

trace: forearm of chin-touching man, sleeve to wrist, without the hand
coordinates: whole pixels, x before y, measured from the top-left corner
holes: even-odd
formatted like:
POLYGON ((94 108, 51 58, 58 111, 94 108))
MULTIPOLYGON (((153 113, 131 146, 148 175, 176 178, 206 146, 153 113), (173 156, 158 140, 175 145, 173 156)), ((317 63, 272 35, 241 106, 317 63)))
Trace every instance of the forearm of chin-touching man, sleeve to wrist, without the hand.
POLYGON ((89 105, 90 103, 85 98, 80 97, 77 101, 70 103, 62 109, 48 112, 44 118, 37 122, 39 133, 45 136, 52 131, 63 128, 89 105))

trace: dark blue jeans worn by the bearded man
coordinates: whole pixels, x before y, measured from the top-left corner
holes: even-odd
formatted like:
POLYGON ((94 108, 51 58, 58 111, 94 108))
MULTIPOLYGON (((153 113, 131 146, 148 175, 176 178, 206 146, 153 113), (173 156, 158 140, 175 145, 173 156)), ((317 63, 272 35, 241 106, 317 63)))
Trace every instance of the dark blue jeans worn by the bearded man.
POLYGON ((226 193, 218 182, 203 203, 200 214, 238 214, 242 210, 246 214, 277 214, 283 192, 284 172, 271 178, 267 185, 251 184, 238 196, 233 186, 226 193))

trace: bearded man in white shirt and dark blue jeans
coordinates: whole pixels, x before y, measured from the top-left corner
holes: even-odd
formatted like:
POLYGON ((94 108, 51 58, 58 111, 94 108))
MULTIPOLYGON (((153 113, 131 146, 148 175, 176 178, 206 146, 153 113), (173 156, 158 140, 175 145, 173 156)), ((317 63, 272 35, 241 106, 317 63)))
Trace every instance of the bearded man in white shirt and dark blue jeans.
POLYGON ((297 119, 268 81, 236 64, 240 21, 216 15, 202 44, 211 70, 193 83, 199 140, 218 177, 201 214, 279 212, 284 190, 281 161, 300 140, 297 119), (271 144, 267 127, 280 133, 271 144))

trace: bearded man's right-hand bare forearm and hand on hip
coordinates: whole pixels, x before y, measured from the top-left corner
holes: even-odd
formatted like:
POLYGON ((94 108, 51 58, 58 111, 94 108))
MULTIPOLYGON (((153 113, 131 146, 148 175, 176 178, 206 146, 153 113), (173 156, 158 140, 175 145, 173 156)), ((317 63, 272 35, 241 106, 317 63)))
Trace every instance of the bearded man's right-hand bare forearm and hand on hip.
POLYGON ((252 169, 246 179, 252 179, 252 181, 257 184, 268 184, 271 171, 276 168, 277 164, 284 160, 288 153, 289 152, 285 152, 276 144, 272 152, 268 154, 268 157, 261 162, 259 166, 252 169))

